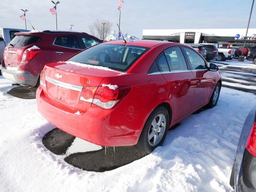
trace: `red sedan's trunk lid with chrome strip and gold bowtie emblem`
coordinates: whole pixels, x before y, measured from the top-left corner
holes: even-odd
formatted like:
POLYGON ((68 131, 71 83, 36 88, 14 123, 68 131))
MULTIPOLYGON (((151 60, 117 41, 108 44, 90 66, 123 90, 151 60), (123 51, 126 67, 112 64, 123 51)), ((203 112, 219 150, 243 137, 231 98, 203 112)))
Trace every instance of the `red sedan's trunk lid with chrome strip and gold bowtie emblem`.
MULTIPOLYGON (((57 62, 44 68, 46 76, 46 96, 65 107, 86 112, 91 102, 80 100, 84 87, 97 88, 106 76, 117 76, 122 72, 102 70, 57 62)), ((95 93, 95 92, 94 92, 95 93)))

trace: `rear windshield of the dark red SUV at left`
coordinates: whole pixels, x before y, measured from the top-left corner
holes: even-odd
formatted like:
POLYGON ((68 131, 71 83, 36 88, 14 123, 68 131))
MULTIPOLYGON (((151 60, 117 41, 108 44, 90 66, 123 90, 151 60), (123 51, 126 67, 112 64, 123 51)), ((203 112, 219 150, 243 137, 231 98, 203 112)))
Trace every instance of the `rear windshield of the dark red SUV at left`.
POLYGON ((19 36, 15 36, 11 40, 10 44, 12 44, 14 47, 24 47, 32 43, 35 43, 37 41, 40 41, 40 39, 41 39, 40 37, 34 36, 34 35, 31 35, 31 36, 19 35, 19 36))

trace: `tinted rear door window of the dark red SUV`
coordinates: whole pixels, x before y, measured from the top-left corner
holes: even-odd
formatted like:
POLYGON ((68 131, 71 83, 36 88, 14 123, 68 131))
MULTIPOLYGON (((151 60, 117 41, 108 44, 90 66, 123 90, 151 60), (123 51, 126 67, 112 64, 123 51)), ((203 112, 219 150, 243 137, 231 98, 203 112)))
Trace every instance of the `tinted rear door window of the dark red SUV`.
POLYGON ((78 42, 78 38, 75 35, 58 36, 54 41, 54 45, 72 49, 82 49, 78 42))

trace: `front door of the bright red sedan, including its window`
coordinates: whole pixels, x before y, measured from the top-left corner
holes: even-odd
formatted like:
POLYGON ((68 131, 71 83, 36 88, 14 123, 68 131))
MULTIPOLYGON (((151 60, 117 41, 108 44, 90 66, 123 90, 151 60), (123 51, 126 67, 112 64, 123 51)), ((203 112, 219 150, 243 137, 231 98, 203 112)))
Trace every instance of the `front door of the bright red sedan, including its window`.
POLYGON ((194 50, 185 48, 186 56, 189 59, 190 67, 194 78, 192 79, 195 84, 195 94, 191 105, 191 110, 195 110, 205 104, 209 100, 212 91, 212 74, 207 69, 207 64, 204 59, 194 50))

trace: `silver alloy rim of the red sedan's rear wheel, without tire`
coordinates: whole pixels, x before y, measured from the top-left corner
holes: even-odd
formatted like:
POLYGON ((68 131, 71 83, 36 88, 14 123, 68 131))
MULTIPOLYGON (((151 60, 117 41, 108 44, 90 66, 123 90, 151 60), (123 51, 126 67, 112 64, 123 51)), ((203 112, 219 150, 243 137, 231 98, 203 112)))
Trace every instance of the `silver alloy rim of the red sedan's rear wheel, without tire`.
POLYGON ((150 125, 148 131, 148 143, 150 146, 156 146, 164 136, 166 129, 166 118, 163 114, 158 114, 150 125))

